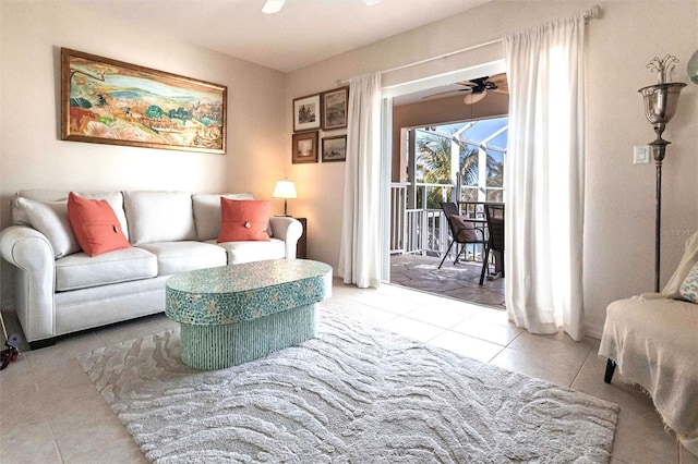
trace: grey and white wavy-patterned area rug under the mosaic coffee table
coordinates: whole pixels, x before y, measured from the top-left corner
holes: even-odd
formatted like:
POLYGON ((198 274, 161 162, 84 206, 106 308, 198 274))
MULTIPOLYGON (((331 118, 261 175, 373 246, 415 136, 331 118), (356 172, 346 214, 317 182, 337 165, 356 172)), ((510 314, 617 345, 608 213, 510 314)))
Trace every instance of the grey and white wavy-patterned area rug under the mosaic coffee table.
POLYGON ((316 339, 198 371, 168 331, 79 359, 147 459, 602 463, 618 406, 325 312, 316 339))

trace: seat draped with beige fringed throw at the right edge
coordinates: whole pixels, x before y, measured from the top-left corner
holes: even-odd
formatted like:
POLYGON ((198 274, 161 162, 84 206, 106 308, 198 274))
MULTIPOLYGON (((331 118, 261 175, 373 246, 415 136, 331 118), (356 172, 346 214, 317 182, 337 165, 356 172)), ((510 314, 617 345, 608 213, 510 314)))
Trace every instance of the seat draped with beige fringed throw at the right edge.
POLYGON ((698 455, 698 304, 695 293, 698 233, 661 293, 618 300, 606 308, 599 354, 607 358, 604 381, 617 369, 623 381, 641 386, 664 424, 698 455), (690 282, 693 283, 690 283, 690 282), (689 283, 687 283, 689 282, 689 283))

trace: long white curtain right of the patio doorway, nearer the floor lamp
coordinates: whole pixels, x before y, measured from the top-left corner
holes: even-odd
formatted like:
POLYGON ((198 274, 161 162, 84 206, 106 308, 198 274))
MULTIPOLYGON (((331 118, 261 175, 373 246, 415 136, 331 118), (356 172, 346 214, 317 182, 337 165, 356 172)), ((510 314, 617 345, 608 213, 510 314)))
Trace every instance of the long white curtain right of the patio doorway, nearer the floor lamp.
POLYGON ((583 333, 585 19, 504 38, 506 309, 532 333, 583 333))

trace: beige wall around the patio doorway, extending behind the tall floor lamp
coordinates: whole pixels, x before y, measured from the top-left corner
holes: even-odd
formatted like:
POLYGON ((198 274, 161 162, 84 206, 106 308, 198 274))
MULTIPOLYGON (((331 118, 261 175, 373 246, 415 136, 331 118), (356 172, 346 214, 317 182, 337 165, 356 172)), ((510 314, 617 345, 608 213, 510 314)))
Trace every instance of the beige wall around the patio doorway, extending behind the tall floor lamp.
MULTIPOLYGON (((666 53, 679 58, 675 77, 687 82, 686 62, 698 49, 698 2, 494 1, 454 17, 394 36, 289 75, 287 99, 326 90, 336 80, 387 70, 497 39, 600 3, 587 27, 587 194, 585 307, 589 333, 599 335, 606 305, 653 286, 654 167, 633 166, 634 145, 651 142, 637 89, 655 83, 646 64, 666 53)), ((429 65, 384 75, 396 84, 501 59, 489 46, 429 65)), ((672 142, 664 166, 662 282, 677 264, 688 233, 698 230, 698 86, 682 94, 665 132, 672 142)), ((287 131, 291 132, 290 110, 287 131)), ((290 137, 286 142, 290 146, 290 137)), ((292 213, 309 218, 309 255, 336 267, 345 163, 297 164, 292 213)))

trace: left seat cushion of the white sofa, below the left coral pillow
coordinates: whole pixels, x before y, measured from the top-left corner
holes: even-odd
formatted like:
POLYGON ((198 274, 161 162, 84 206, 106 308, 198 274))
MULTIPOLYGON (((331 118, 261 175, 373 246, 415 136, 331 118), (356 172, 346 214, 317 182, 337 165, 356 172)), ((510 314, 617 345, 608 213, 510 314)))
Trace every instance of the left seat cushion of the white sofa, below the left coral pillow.
POLYGON ((122 248, 89 257, 75 253, 56 260, 56 291, 85 289, 157 276, 154 254, 136 248, 122 248))

